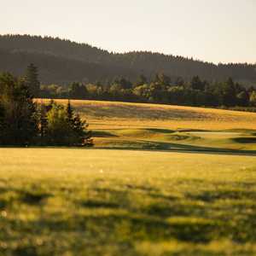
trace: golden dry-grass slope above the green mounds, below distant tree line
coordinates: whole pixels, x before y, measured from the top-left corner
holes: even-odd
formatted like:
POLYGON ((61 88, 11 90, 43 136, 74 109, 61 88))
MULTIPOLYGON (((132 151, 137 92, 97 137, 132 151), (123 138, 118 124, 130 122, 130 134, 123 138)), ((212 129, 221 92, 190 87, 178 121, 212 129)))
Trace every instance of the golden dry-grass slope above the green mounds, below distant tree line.
MULTIPOLYGON (((58 100, 65 103, 67 100, 58 100)), ((91 129, 255 129, 256 113, 171 105, 72 101, 91 129)))

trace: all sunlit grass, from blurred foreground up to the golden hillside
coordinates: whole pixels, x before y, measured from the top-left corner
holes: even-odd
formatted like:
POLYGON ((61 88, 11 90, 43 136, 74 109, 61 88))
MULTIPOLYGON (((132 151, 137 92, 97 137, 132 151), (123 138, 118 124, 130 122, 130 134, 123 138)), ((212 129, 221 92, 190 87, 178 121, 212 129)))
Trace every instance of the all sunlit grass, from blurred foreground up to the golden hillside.
POLYGON ((95 148, 0 148, 0 255, 256 255, 256 113, 72 103, 95 148))

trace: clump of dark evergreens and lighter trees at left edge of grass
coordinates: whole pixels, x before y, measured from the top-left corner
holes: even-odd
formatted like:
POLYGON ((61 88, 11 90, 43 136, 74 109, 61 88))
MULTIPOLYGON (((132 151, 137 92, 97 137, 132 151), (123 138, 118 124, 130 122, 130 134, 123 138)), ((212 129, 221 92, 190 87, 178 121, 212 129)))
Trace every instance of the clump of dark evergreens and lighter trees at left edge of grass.
POLYGON ((0 74, 0 145, 90 146, 88 124, 67 106, 36 102, 39 82, 31 65, 24 77, 0 74))

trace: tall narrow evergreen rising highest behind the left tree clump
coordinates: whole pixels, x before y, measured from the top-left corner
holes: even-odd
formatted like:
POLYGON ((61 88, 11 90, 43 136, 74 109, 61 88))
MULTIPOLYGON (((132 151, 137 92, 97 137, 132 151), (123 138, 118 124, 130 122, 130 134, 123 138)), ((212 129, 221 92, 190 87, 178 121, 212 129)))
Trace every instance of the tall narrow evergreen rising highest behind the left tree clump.
POLYGON ((40 96, 40 82, 38 81, 38 67, 34 64, 30 64, 26 68, 25 82, 30 93, 34 97, 40 96))

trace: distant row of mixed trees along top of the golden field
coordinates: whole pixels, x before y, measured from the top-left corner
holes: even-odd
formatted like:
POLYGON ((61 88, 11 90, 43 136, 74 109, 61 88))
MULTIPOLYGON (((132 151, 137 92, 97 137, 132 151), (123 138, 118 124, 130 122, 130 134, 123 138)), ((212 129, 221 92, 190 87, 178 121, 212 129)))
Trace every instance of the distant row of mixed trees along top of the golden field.
POLYGON ((231 78, 224 82, 210 83, 195 76, 186 82, 182 78, 172 79, 164 73, 157 73, 149 81, 140 75, 133 83, 121 77, 105 84, 43 84, 38 93, 43 98, 150 102, 214 108, 256 107, 256 90, 253 87, 246 88, 231 78))

